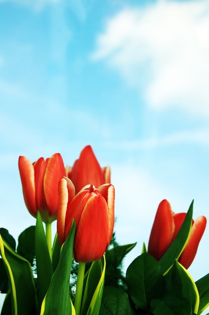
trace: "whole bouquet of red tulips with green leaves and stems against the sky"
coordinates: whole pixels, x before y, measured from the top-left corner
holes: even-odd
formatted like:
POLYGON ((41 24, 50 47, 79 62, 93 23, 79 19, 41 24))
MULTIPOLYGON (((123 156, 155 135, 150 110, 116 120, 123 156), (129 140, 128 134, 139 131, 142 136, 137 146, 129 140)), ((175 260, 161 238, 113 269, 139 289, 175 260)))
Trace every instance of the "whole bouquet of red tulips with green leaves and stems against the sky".
POLYGON ((59 153, 31 163, 19 157, 23 196, 36 225, 16 241, 0 228, 1 315, 193 315, 209 305, 209 274, 194 282, 187 271, 206 225, 158 206, 149 244, 123 272, 135 244, 114 232, 115 188, 91 146, 71 167, 59 153), (51 223, 57 220, 52 240, 51 223))

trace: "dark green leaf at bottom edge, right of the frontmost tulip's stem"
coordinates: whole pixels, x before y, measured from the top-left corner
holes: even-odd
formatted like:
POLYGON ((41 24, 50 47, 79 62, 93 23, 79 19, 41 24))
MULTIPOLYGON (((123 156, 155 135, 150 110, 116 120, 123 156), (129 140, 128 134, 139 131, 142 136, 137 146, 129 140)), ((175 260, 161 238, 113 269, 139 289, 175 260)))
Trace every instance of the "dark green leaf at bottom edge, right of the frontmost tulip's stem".
POLYGON ((128 294, 112 286, 104 286, 99 315, 134 315, 128 294))

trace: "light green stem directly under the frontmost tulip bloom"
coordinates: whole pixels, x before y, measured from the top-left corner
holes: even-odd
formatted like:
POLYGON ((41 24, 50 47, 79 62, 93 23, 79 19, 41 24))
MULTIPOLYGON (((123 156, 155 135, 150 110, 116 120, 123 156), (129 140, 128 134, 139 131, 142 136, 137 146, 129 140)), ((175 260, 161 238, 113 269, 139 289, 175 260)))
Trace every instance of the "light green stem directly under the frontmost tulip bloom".
POLYGON ((74 302, 76 315, 80 314, 84 274, 85 274, 85 263, 79 263, 76 292, 75 292, 75 302, 74 302))

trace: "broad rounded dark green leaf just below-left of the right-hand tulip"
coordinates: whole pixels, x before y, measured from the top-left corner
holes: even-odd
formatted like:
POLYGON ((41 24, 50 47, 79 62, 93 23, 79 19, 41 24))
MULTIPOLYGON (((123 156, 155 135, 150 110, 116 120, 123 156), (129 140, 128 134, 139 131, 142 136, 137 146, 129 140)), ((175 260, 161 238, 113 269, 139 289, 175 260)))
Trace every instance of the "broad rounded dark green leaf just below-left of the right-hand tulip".
POLYGON ((128 293, 137 308, 148 310, 151 299, 159 296, 163 274, 159 263, 144 253, 128 267, 126 281, 128 293))

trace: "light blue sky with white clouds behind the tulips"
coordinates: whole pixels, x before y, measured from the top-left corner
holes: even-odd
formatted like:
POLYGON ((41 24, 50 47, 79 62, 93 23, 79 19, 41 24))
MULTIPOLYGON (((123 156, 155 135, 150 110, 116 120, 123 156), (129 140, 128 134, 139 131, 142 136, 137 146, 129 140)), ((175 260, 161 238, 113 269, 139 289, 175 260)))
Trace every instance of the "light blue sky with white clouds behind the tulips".
POLYGON ((16 241, 35 224, 19 155, 72 165, 87 144, 111 166, 118 242, 137 242, 125 270, 162 199, 209 218, 208 31, 208 0, 0 0, 0 225, 16 241))

